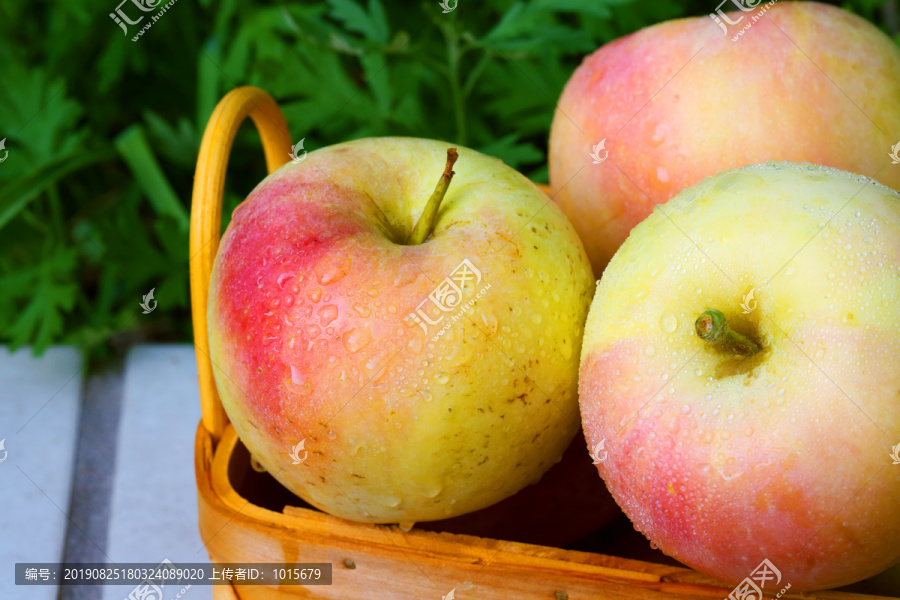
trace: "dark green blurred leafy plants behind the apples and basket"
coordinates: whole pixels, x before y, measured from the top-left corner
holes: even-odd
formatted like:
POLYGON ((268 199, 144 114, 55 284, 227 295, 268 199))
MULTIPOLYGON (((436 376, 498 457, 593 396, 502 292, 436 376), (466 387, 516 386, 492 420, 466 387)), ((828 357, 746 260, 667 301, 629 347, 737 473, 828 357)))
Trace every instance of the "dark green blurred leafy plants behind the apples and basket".
MULTIPOLYGON (((194 163, 207 119, 236 86, 272 94, 309 151, 367 136, 438 138, 546 182, 554 105, 581 59, 716 9, 443 1, 464 10, 445 14, 439 0, 176 0, 138 36, 146 19, 120 25, 111 14, 157 11, 129 0, 0 0, 0 344, 36 354, 72 345, 94 369, 138 342, 191 340, 194 163), (149 318, 139 305, 151 289, 149 318)), ((834 4, 900 44, 897 0, 834 4)), ((265 174, 247 122, 225 223, 265 174)))

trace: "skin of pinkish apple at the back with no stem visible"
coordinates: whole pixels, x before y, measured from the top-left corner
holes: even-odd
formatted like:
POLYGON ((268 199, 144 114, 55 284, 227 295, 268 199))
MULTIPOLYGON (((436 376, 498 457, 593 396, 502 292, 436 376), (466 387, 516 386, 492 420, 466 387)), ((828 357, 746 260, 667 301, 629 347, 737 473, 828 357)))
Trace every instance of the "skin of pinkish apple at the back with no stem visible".
POLYGON ((900 189, 900 169, 882 170, 900 140, 896 45, 815 2, 778 2, 732 42, 757 12, 728 13, 744 18, 727 37, 709 16, 642 29, 586 57, 567 83, 550 185, 598 276, 655 204, 726 169, 811 162, 900 189), (609 154, 594 164, 602 139, 598 155, 609 154))

